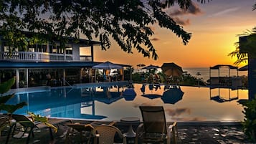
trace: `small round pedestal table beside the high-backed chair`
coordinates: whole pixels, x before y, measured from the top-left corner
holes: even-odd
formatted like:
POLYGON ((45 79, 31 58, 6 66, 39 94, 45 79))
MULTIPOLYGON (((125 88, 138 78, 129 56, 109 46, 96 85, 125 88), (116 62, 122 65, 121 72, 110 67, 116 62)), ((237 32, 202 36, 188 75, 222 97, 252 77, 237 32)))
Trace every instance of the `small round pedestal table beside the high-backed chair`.
POLYGON ((123 117, 123 118, 121 118, 120 122, 129 125, 128 132, 124 133, 124 135, 126 137, 128 137, 128 138, 136 137, 136 133, 133 131, 133 124, 140 123, 140 119, 138 117, 123 117))

